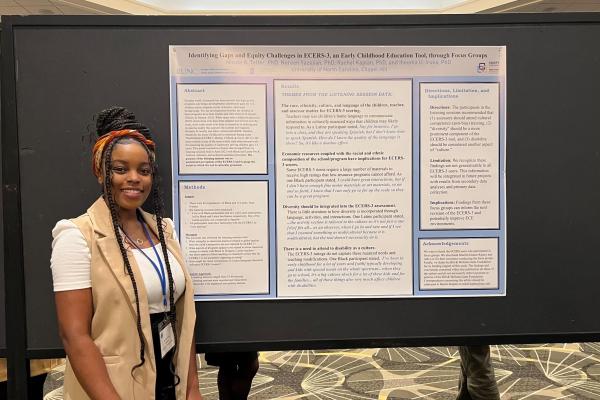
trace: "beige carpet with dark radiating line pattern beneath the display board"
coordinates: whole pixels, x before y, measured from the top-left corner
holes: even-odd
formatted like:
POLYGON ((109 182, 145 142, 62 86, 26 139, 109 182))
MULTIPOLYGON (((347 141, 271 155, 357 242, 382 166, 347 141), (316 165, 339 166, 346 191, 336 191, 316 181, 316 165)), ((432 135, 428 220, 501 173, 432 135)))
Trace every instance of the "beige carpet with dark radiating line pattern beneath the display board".
MULTIPOLYGON (((600 343, 492 346, 503 400, 600 399, 600 343)), ((217 370, 201 357, 205 400, 217 400, 217 370)), ((454 399, 454 347, 263 352, 250 399, 454 399)), ((44 400, 62 399, 62 369, 44 400)))

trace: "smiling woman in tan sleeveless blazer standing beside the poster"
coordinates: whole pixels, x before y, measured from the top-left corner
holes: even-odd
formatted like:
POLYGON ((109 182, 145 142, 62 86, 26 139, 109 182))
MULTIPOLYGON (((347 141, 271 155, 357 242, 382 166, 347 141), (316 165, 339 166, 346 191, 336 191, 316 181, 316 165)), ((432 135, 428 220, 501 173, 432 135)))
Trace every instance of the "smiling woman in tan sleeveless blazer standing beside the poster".
POLYGON ((102 196, 52 231, 64 398, 201 399, 193 287, 162 218, 154 142, 122 107, 100 112, 96 130, 102 196), (149 196, 154 215, 141 210, 149 196))

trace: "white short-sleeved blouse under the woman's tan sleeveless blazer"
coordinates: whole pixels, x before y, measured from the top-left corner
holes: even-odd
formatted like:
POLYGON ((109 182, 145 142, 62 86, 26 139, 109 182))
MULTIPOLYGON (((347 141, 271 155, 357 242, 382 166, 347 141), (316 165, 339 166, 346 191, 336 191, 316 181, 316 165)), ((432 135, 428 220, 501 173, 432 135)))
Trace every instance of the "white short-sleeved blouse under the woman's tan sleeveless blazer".
MULTIPOLYGON (((165 220, 173 226, 171 219, 165 220)), ((54 282, 54 291, 61 292, 65 290, 87 289, 92 287, 91 280, 91 255, 87 242, 83 234, 72 221, 67 219, 60 220, 52 229, 52 256, 50 258, 50 267, 52 268, 52 279, 54 282)), ((175 240, 177 234, 175 234, 175 240)), ((166 274, 165 259, 160 247, 160 243, 156 246, 161 262, 166 274)), ((160 268, 160 264, 156 261, 156 254, 152 247, 147 249, 133 249, 133 255, 137 262, 142 279, 148 294, 148 307, 150 314, 164 312, 168 310, 163 304, 162 287, 158 273, 150 263, 150 261, 142 254, 144 252, 154 263, 160 268)), ((167 251, 169 256, 169 265, 173 275, 173 286, 175 289, 174 299, 177 301, 185 290, 185 276, 181 265, 177 259, 173 257, 170 251, 167 251)), ((165 275, 166 278, 166 275, 165 275)), ((169 284, 167 280, 167 303, 169 301, 169 284)))

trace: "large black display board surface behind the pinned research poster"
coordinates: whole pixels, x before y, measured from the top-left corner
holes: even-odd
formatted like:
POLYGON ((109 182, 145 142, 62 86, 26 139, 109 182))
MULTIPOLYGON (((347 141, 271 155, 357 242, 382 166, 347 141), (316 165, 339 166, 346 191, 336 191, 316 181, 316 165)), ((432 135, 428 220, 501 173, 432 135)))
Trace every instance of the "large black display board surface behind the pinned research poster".
MULTIPOLYGON (((24 274, 25 295, 13 303, 25 304, 28 357, 61 351, 50 231, 99 194, 89 160, 94 113, 126 105, 151 127, 171 209, 166 54, 173 44, 509 49, 506 297, 201 303, 199 350, 599 338, 600 320, 584 317, 597 305, 600 281, 600 136, 591 132, 600 90, 597 15, 25 17, 3 23, 3 33, 10 32, 3 34, 5 49, 14 50, 3 52, 8 86, 2 106, 10 117, 3 118, 3 142, 11 144, 3 148, 10 166, 5 195, 11 194, 4 205, 22 222, 22 235, 6 237, 6 245, 23 246, 20 256, 5 259, 24 274)), ((5 229, 14 226, 13 218, 5 229)))

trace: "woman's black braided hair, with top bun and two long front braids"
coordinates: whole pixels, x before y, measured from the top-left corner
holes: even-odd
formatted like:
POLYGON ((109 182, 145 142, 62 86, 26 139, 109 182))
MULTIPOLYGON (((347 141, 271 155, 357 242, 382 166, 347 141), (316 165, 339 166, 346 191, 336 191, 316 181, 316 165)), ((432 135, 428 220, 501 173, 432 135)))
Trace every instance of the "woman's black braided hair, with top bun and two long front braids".
MULTIPOLYGON (((135 118, 135 115, 131 111, 127 110, 126 108, 113 106, 113 107, 110 107, 110 108, 98 113, 98 116, 96 117, 96 133, 97 133, 98 137, 102 137, 105 134, 113 132, 113 131, 124 130, 124 129, 131 129, 136 132, 139 132, 146 139, 151 140, 150 130, 145 125, 143 125, 139 121, 137 121, 137 119, 135 118)), ((162 203, 162 196, 161 196, 160 182, 159 182, 160 178, 158 175, 158 165, 155 161, 154 154, 151 152, 151 150, 148 148, 148 146, 140 140, 139 137, 136 137, 136 135, 120 136, 118 138, 115 138, 111 142, 109 142, 106 145, 106 147, 102 150, 102 155, 101 155, 102 161, 101 162, 103 163, 103 167, 104 167, 103 195, 104 195, 104 198, 108 205, 108 208, 110 210, 110 216, 112 219, 112 225, 113 225, 113 229, 115 232, 115 237, 117 239, 117 243, 119 244, 119 249, 121 250, 121 256, 123 257, 124 268, 125 268, 127 275, 129 275, 129 279, 131 279, 131 284, 133 286, 133 292, 135 295, 137 333, 138 333, 138 337, 140 340, 140 362, 132 368, 132 370, 131 370, 132 374, 136 368, 141 367, 146 362, 146 358, 145 358, 146 343, 144 342, 144 335, 142 332, 142 320, 141 320, 141 315, 140 315, 140 300, 139 300, 138 283, 133 274, 133 270, 131 268, 129 258, 127 257, 127 251, 125 249, 123 236, 121 234, 122 226, 121 226, 121 222, 119 219, 119 211, 118 211, 119 206, 115 202, 113 193, 112 193, 112 177, 113 177, 112 152, 113 152, 114 147, 117 144, 131 143, 133 141, 135 141, 136 143, 139 143, 146 150, 146 153, 148 154, 148 159, 150 161, 150 166, 151 166, 151 171, 152 171, 152 191, 151 191, 151 196, 152 196, 151 203, 152 203, 152 208, 153 208, 152 212, 156 218, 158 239, 160 241, 160 246, 162 249, 162 253, 163 253, 163 257, 164 257, 164 261, 165 261, 165 265, 166 265, 166 269, 167 269, 167 278, 168 278, 168 284, 169 284, 169 310, 167 311, 167 316, 169 317, 169 321, 173 328, 173 332, 177 332, 177 313, 176 313, 175 301, 174 301, 173 274, 171 272, 171 265, 169 263, 169 256, 167 253, 167 245, 165 242, 165 235, 164 235, 163 203, 162 203)), ((178 337, 177 337, 177 335, 175 335, 175 347, 173 348, 173 352, 171 353, 172 355, 177 353, 177 348, 178 348, 178 337)), ((173 357, 171 357, 171 359, 170 359, 170 367, 171 367, 171 372, 175 376, 175 385, 177 385, 180 381, 180 378, 175 373, 175 365, 173 362, 173 357)))

